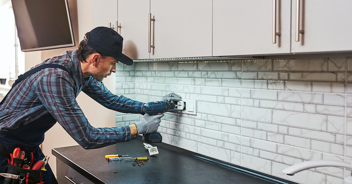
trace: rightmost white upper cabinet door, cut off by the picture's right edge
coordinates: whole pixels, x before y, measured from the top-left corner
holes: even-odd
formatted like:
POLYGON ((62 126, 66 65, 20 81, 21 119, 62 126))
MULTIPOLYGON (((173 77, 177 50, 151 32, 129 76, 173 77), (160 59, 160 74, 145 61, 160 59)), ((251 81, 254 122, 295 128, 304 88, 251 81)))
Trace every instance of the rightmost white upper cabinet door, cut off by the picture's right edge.
POLYGON ((351 0, 300 0, 299 6, 296 41, 297 0, 292 0, 292 53, 352 50, 351 0))

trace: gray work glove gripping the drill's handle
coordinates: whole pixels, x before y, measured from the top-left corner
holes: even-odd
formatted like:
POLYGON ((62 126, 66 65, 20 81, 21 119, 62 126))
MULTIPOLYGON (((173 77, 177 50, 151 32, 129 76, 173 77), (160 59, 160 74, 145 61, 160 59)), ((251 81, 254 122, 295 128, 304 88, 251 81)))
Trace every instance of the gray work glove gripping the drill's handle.
POLYGON ((164 114, 157 114, 154 116, 149 116, 149 114, 145 114, 140 121, 134 123, 137 127, 138 134, 150 134, 156 132, 158 127, 160 126, 160 118, 162 118, 164 114))

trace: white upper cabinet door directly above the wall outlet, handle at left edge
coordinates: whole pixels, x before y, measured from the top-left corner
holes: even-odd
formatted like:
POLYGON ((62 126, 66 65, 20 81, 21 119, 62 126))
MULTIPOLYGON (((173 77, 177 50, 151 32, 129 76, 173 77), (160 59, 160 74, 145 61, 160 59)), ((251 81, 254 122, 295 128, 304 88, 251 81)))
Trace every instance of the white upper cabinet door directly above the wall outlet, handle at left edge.
POLYGON ((212 0, 150 0, 150 13, 151 59, 212 55, 212 0))

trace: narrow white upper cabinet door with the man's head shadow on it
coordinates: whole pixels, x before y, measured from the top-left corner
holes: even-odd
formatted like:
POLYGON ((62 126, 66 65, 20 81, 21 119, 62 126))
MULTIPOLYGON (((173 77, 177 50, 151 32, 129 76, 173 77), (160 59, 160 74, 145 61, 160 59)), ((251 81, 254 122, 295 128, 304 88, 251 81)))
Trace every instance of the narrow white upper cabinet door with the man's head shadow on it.
POLYGON ((149 9, 149 1, 146 0, 118 1, 118 24, 121 24, 121 29, 117 31, 124 38, 122 53, 131 59, 149 59, 149 9))

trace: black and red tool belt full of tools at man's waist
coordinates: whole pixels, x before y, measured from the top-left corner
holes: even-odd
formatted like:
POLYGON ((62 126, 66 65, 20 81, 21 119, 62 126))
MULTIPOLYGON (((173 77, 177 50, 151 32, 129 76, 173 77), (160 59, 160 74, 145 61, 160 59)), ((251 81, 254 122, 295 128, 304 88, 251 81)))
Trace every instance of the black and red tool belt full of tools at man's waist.
MULTIPOLYGON (((1 143, 0 143, 1 144, 1 143)), ((11 176, 15 176, 16 179, 11 177, 5 177, 4 184, 43 184, 41 173, 41 166, 39 169, 33 168, 33 152, 23 153, 24 156, 20 158, 14 158, 13 154, 10 153, 5 155, 7 157, 8 169, 7 173, 11 176)), ((1 177, 1 176, 0 176, 1 177)))

